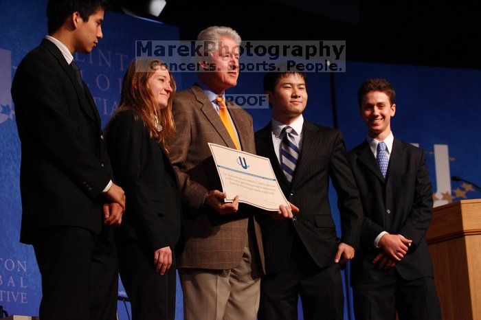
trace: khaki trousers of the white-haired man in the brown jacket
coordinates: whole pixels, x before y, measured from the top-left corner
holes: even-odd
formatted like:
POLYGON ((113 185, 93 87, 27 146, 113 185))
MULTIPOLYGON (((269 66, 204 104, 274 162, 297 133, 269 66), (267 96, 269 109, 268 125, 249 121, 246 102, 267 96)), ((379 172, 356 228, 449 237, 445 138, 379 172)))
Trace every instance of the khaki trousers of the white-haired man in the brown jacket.
MULTIPOLYGON (((250 232, 249 232, 250 234, 250 232)), ((256 320, 260 272, 252 238, 247 237, 242 261, 227 270, 181 268, 183 318, 186 320, 256 320), (254 257, 256 255, 254 254, 254 257)))

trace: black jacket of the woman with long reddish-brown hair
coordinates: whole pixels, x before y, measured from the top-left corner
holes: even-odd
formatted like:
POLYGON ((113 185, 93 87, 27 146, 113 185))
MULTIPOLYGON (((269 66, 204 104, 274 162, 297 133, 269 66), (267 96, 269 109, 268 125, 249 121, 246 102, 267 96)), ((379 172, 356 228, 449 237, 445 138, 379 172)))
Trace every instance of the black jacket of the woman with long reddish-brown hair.
POLYGON ((120 242, 137 239, 151 252, 173 249, 181 233, 181 203, 177 175, 164 148, 133 111, 115 115, 105 137, 115 179, 128 199, 120 242))

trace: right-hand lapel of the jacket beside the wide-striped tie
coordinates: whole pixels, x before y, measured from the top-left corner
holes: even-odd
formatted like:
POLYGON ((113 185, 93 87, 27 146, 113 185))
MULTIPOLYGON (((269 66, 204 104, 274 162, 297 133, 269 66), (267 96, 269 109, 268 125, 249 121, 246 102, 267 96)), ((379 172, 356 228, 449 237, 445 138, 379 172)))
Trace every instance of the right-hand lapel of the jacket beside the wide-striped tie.
POLYGON ((295 165, 294 176, 291 181, 292 185, 300 181, 300 178, 302 178, 306 170, 309 170, 309 164, 313 161, 317 150, 315 145, 322 142, 315 139, 316 131, 317 128, 315 126, 304 120, 304 124, 302 125, 302 147, 298 163, 295 165))

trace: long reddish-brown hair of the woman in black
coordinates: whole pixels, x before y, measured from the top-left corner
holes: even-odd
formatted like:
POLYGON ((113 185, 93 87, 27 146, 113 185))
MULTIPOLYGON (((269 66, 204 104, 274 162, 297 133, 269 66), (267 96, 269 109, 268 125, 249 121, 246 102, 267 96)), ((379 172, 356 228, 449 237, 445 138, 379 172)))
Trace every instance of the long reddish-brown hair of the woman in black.
MULTIPOLYGON (((172 137, 175 133, 175 124, 172 117, 172 100, 174 93, 175 80, 166 63, 157 58, 139 58, 133 60, 131 64, 128 65, 124 81, 122 82, 120 106, 115 112, 115 115, 126 110, 133 111, 137 117, 142 119, 148 128, 150 137, 155 137, 159 141, 159 144, 168 152, 166 139, 172 137), (157 100, 148 87, 147 81, 154 75, 155 71, 162 68, 165 68, 169 73, 172 92, 168 98, 166 108, 160 109, 157 106, 157 100), (155 117, 158 119, 157 124, 155 117), (161 126, 161 131, 157 129, 158 125, 161 126)), ((115 117, 115 115, 113 115, 113 117, 115 117)))

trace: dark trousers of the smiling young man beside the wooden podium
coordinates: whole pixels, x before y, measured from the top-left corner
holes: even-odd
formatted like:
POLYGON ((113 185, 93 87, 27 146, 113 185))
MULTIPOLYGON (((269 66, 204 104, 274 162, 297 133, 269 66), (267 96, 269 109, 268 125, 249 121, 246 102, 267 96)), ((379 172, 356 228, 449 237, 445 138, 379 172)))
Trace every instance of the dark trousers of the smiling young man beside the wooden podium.
POLYGON ((440 320, 438 293, 432 277, 407 281, 395 268, 381 281, 353 284, 356 320, 440 320))

